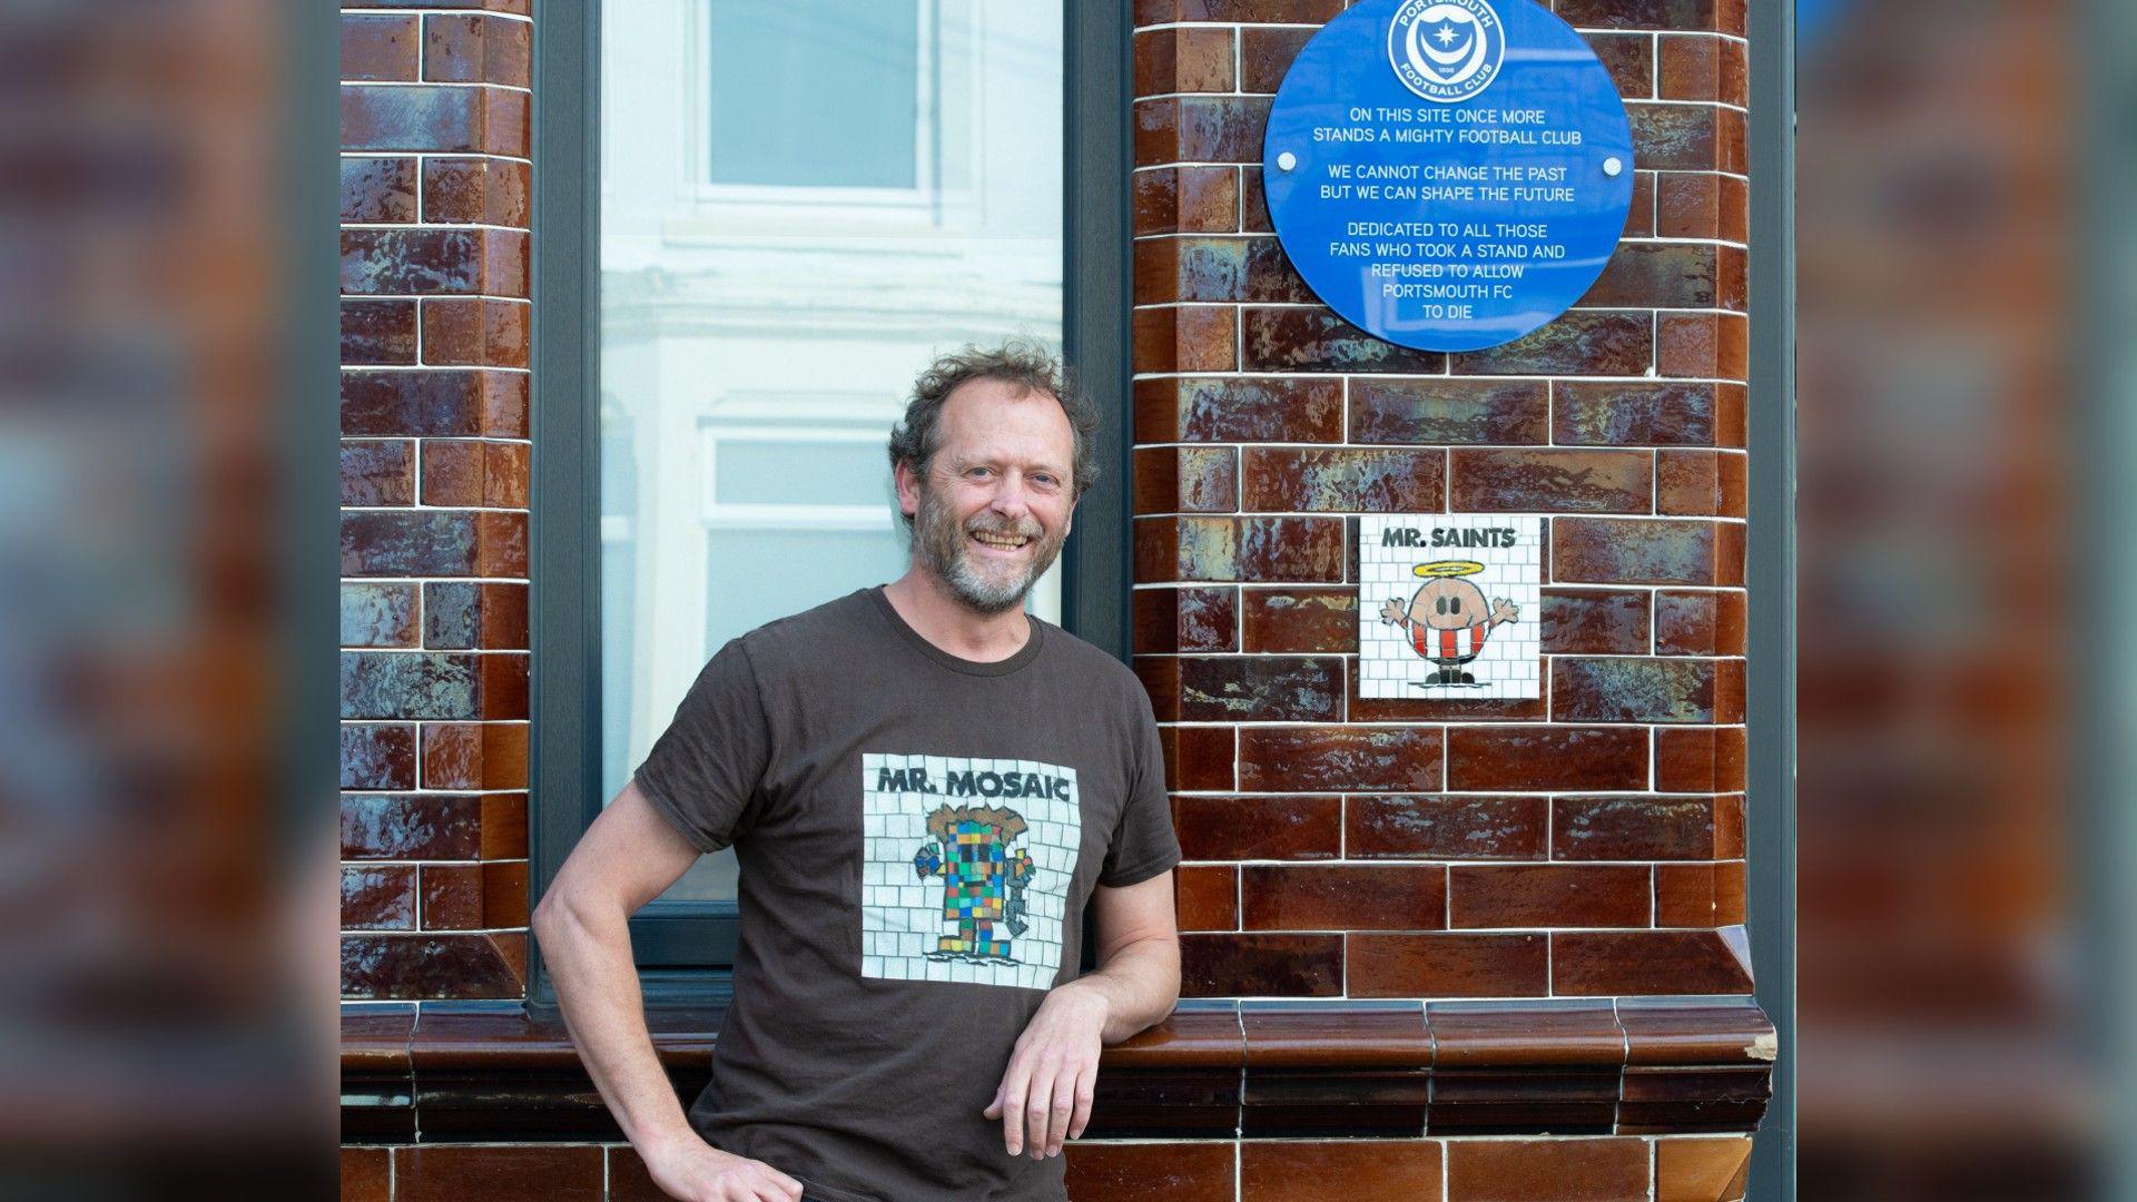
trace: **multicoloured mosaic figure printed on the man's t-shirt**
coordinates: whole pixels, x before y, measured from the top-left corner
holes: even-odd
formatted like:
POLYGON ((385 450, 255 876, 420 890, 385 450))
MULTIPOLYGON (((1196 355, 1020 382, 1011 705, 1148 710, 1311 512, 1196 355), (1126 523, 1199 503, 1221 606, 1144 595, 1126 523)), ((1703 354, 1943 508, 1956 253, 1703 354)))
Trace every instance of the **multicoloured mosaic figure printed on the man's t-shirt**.
POLYGON ((927 815, 934 838, 912 856, 925 881, 942 877, 942 922, 955 935, 936 939, 930 960, 1015 965, 1011 937, 1028 930, 1024 890, 1039 868, 1013 847, 1026 832, 1024 815, 1004 806, 936 806, 927 815))

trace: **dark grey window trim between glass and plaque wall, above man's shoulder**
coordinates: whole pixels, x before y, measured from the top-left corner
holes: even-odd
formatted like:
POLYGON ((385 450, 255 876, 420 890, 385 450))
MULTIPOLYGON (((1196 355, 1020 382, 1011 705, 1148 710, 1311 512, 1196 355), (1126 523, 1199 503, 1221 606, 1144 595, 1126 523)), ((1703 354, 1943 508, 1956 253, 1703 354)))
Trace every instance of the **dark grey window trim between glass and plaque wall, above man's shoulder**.
MULTIPOLYGON (((1062 103, 1062 349, 1098 402, 1101 468, 1062 548, 1062 625, 1128 661, 1135 456, 1130 321, 1133 21, 1124 4, 1066 9, 1062 103)), ((1088 945, 1088 941, 1086 941, 1088 945)))

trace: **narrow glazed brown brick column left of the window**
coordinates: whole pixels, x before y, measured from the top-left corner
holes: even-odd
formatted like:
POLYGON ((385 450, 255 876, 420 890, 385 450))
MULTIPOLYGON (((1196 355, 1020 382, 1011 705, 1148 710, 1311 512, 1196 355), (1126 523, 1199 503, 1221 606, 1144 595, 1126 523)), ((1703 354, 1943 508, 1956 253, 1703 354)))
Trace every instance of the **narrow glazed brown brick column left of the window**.
POLYGON ((342 13, 348 999, 526 992, 530 34, 342 13))

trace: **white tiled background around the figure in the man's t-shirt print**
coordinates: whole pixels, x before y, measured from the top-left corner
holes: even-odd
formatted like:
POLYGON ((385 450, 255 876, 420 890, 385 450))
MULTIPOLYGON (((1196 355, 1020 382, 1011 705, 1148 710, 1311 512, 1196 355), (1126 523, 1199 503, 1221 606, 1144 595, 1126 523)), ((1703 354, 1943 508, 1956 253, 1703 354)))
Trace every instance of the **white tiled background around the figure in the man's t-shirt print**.
POLYGON ((955 755, 861 755, 861 975, 902 982, 977 982, 992 986, 1054 988, 1062 965, 1062 930, 1068 913, 1068 881, 1075 877, 1077 851, 1083 845, 1083 808, 1077 800, 1075 768, 1039 764, 1036 759, 970 759, 955 755), (987 798, 951 796, 947 791, 876 789, 883 772, 921 768, 927 783, 947 789, 951 772, 1017 772, 1068 781, 1066 798, 987 798), (1011 943, 1017 965, 974 965, 970 960, 930 960, 936 939, 955 935, 942 918, 942 877, 919 877, 912 856, 930 843, 927 815, 936 806, 1004 806, 1024 815, 1030 826, 1011 843, 1021 847, 1039 873, 1024 890, 1028 928, 1024 935, 1000 937, 1011 943))

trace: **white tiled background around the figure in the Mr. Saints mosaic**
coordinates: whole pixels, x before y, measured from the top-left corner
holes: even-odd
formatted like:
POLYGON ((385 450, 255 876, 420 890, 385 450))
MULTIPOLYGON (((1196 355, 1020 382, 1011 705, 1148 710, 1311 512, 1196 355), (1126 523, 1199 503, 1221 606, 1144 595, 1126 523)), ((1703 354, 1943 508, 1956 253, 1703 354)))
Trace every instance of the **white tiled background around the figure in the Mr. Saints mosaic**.
POLYGON ((1524 699, 1543 695, 1543 518, 1511 518, 1507 513, 1366 513, 1357 530, 1357 693, 1359 697, 1400 699, 1524 699), (1513 528, 1513 548, 1383 548, 1381 530, 1415 526, 1430 537, 1434 528, 1513 528), (1466 558, 1483 565, 1468 580, 1492 601, 1504 597, 1519 607, 1511 625, 1494 627, 1483 650, 1460 672, 1477 684, 1425 684, 1438 665, 1417 654, 1402 627, 1381 620, 1387 599, 1410 603, 1423 580, 1413 571, 1421 563, 1466 558))

